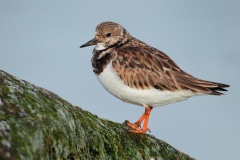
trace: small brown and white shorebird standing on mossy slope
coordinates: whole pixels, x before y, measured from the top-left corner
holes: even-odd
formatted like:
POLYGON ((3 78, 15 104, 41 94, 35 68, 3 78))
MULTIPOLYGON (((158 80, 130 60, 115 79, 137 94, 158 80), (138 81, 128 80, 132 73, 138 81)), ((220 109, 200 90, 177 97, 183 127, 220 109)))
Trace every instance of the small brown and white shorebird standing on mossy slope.
POLYGON ((124 122, 131 133, 150 132, 148 121, 155 107, 198 95, 222 95, 220 91, 230 87, 190 75, 164 52, 131 36, 115 22, 98 24, 95 37, 80 48, 92 45, 92 68, 102 86, 124 102, 145 107, 135 123, 124 122))

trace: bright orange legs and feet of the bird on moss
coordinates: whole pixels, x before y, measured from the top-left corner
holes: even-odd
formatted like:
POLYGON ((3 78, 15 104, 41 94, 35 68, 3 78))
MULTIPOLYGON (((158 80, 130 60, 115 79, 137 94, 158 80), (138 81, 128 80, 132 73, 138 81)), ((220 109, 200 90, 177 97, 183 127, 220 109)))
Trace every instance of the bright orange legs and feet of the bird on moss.
POLYGON ((143 113, 143 115, 138 119, 137 122, 135 123, 130 123, 128 120, 126 120, 124 123, 129 126, 130 128, 132 128, 130 130, 130 132, 132 133, 142 133, 142 134, 145 134, 147 131, 150 131, 149 128, 147 128, 147 125, 148 125, 148 119, 149 119, 149 116, 150 116, 150 112, 152 110, 152 107, 149 107, 147 106, 145 108, 145 112, 143 113), (144 124, 143 124, 143 128, 139 128, 142 121, 144 121, 144 124))

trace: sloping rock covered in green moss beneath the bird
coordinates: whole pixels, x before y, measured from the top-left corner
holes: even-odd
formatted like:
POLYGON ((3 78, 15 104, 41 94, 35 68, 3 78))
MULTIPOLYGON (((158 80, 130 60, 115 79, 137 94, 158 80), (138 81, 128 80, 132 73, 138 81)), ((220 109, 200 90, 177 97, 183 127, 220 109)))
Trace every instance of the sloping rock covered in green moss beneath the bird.
POLYGON ((190 160, 0 70, 0 159, 190 160))

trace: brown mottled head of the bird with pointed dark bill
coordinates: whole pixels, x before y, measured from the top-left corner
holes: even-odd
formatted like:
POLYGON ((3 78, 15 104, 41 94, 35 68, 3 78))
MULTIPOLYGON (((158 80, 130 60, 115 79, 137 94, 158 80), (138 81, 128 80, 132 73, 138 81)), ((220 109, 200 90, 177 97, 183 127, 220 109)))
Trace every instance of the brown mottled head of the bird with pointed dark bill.
POLYGON ((96 45, 96 50, 104 50, 125 42, 130 34, 124 27, 114 22, 102 22, 96 27, 95 38, 80 48, 96 45))

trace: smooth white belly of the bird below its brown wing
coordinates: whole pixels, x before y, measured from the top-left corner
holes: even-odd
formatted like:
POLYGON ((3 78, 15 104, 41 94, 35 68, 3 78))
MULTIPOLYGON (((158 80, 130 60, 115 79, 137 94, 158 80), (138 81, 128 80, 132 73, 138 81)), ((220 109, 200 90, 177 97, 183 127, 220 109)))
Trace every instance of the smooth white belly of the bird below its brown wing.
POLYGON ((155 88, 135 89, 124 83, 109 63, 103 72, 97 76, 103 87, 122 101, 141 106, 163 106, 177 101, 183 101, 195 94, 188 90, 161 91, 155 88))

